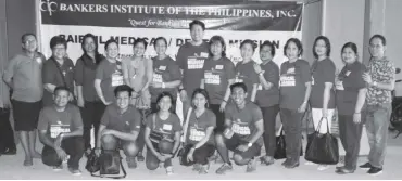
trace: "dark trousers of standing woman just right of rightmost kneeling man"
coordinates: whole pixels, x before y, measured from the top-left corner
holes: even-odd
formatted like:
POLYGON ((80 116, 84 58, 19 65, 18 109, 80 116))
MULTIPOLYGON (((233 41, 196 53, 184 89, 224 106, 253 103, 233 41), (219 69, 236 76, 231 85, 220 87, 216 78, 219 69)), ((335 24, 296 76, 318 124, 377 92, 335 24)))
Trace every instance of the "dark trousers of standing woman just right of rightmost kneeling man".
POLYGON ((274 156, 276 150, 276 116, 279 113, 279 105, 273 105, 269 107, 261 107, 264 117, 264 146, 266 156, 274 156))

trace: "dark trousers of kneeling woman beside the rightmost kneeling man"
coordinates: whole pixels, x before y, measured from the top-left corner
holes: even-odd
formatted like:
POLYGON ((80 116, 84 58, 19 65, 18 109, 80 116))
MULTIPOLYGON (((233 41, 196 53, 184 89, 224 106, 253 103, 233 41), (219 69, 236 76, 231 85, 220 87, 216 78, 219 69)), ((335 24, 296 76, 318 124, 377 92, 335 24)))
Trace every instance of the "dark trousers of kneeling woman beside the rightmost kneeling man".
POLYGON ((187 155, 190 152, 193 145, 189 144, 185 146, 185 152, 181 155, 183 165, 191 166, 193 164, 201 164, 206 165, 208 158, 211 157, 215 153, 215 146, 211 144, 204 144, 201 147, 197 148, 192 155, 193 161, 187 160, 187 155))

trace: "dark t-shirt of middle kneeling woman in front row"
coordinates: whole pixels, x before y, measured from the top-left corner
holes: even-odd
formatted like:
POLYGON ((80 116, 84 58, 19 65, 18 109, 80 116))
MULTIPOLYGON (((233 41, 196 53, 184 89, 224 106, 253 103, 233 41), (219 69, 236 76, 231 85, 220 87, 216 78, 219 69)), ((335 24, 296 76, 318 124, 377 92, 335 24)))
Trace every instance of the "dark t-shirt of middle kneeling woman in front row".
POLYGON ((176 114, 171 113, 166 120, 162 120, 158 113, 153 113, 147 117, 147 127, 151 132, 162 133, 164 137, 174 140, 175 132, 181 131, 180 119, 176 114), (153 116, 155 119, 153 120, 153 116))

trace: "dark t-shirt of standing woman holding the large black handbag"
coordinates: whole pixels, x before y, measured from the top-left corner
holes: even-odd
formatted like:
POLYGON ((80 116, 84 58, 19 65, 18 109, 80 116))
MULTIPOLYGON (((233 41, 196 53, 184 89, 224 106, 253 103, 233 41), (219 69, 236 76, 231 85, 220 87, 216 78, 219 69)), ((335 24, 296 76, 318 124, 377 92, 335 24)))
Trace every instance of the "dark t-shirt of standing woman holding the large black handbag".
MULTIPOLYGON (((310 104, 312 108, 323 108, 324 89, 326 82, 334 83, 335 81, 335 64, 330 59, 315 61, 312 65, 312 91, 310 95, 310 104)), ((335 108, 335 91, 329 91, 328 108, 335 108)))

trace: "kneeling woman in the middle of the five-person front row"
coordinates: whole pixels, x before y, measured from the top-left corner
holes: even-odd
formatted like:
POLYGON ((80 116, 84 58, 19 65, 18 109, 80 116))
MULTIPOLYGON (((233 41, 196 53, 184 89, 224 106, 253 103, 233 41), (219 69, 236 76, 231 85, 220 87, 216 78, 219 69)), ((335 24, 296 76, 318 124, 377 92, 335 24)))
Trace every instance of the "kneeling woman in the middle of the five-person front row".
POLYGON ((173 96, 162 92, 156 99, 156 113, 148 116, 145 141, 147 144, 146 165, 155 170, 164 163, 167 174, 173 174, 172 158, 180 145, 180 119, 173 112, 173 96))

